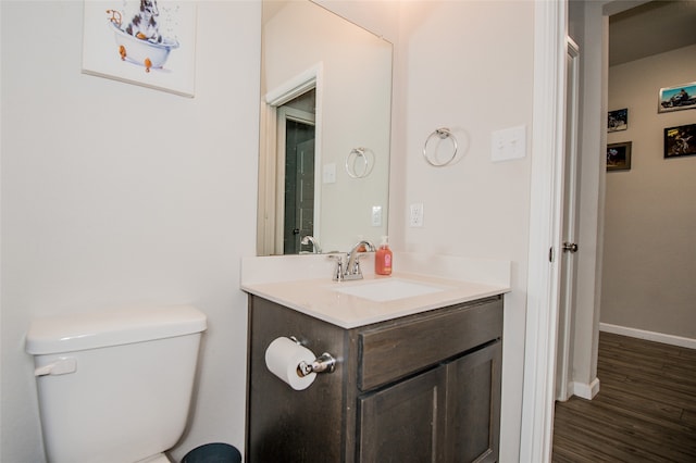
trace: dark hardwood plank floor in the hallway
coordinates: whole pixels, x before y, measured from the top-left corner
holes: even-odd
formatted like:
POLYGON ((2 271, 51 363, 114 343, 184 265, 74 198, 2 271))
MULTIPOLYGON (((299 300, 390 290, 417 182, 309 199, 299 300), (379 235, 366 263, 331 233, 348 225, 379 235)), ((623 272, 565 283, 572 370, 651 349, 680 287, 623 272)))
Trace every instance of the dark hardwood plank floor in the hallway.
POLYGON ((600 333, 597 376, 556 403, 552 462, 696 463, 696 350, 600 333))

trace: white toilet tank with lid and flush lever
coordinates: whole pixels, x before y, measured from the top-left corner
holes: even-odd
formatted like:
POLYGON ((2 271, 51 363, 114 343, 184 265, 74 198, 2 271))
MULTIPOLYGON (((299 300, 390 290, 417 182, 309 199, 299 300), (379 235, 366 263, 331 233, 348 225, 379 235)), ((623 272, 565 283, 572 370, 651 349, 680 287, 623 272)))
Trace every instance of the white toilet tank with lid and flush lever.
POLYGON ((165 463, 188 420, 206 315, 130 306, 36 318, 34 355, 51 463, 165 463))

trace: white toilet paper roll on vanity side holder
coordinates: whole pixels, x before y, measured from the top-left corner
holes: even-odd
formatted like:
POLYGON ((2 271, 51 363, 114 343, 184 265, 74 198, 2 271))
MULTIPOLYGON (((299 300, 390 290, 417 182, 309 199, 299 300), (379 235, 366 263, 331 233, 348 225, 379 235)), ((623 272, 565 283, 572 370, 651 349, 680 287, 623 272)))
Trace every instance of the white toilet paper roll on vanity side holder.
POLYGON ((316 356, 311 350, 288 338, 276 338, 265 350, 265 366, 295 390, 303 390, 314 383, 316 373, 301 376, 300 362, 312 363, 316 356))

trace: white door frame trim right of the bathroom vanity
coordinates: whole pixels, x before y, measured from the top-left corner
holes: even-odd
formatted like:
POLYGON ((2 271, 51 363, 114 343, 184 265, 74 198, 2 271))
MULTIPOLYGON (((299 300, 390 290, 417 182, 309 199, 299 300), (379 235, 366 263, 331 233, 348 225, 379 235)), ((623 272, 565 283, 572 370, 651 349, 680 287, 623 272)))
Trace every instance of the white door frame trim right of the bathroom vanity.
POLYGON ((567 37, 567 1, 536 0, 521 462, 548 462, 552 449, 567 37))

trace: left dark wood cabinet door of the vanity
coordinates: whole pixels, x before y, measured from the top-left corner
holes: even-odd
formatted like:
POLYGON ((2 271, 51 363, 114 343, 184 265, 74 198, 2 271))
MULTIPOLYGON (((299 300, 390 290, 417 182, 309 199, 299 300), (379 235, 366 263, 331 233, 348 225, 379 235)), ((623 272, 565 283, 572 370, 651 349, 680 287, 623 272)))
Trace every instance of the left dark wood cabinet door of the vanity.
POLYGON ((443 461, 446 379, 440 366, 360 397, 359 461, 443 461))

